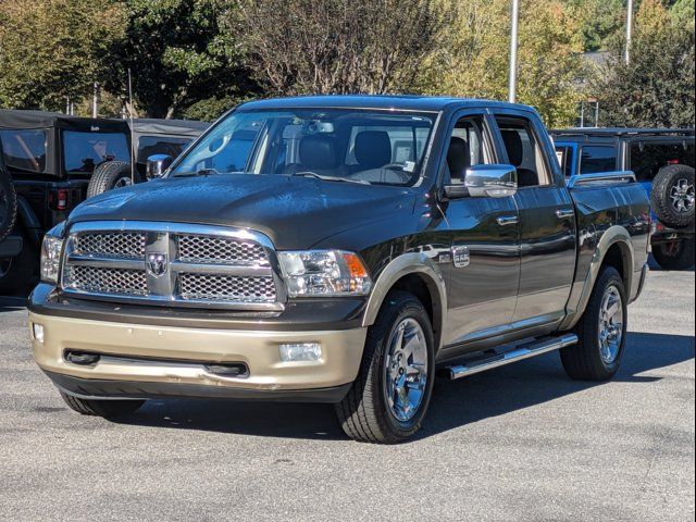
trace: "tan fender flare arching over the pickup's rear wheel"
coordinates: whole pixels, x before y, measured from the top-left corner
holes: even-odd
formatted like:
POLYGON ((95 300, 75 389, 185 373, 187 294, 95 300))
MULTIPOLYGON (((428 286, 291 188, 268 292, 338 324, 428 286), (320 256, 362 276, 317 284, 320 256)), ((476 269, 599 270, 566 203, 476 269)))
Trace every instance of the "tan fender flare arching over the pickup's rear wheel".
POLYGON ((631 293, 633 288, 633 263, 635 259, 635 250, 633 243, 631 241, 631 235, 629 232, 620 225, 613 225, 609 227, 599 238, 597 248, 589 263, 589 270, 585 276, 584 283, 582 283, 582 289, 577 290, 577 283, 573 287, 570 299, 566 307, 567 315, 561 323, 559 330, 567 331, 575 326, 585 312, 587 303, 589 302, 589 296, 595 288, 595 283, 599 276, 599 270, 607 252, 611 247, 618 245, 621 249, 621 258, 623 260, 623 284, 627 293, 631 293))

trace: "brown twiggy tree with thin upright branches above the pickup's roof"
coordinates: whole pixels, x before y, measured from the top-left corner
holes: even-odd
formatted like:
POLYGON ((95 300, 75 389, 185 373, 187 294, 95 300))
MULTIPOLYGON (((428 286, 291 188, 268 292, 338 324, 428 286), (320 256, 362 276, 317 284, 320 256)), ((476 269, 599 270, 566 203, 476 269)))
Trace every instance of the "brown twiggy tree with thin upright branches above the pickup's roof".
POLYGON ((431 0, 240 0, 256 78, 274 95, 412 86, 432 49, 431 0))

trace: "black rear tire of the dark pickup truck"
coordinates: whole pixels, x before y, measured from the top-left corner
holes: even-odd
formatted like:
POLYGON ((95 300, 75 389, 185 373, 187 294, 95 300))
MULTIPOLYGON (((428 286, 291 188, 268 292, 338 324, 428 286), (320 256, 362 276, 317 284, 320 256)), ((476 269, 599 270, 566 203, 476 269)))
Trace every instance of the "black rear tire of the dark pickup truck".
POLYGON ((613 377, 619 370, 625 348, 626 318, 626 293, 623 279, 616 269, 605 268, 592 291, 587 309, 575 326, 575 334, 580 340, 560 352, 566 373, 579 381, 609 381, 613 377), (621 337, 619 339, 612 337, 611 346, 616 351, 611 352, 602 350, 600 340, 604 331, 602 308, 609 294, 611 296, 608 302, 612 302, 611 297, 619 297, 617 310, 621 313, 620 325, 616 318, 613 323, 613 334, 620 334, 621 337))

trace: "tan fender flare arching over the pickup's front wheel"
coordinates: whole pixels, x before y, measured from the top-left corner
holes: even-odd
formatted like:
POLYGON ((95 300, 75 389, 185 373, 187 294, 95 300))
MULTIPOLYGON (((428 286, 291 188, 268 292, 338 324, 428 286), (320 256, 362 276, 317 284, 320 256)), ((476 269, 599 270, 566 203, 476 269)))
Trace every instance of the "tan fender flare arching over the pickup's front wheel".
POLYGON ((447 315, 447 288, 445 277, 437 263, 422 252, 407 252, 393 259, 380 273, 368 299, 362 326, 371 326, 377 319, 380 309, 394 285, 407 275, 421 277, 431 294, 433 302, 433 330, 437 336, 436 351, 442 346, 442 332, 447 315))

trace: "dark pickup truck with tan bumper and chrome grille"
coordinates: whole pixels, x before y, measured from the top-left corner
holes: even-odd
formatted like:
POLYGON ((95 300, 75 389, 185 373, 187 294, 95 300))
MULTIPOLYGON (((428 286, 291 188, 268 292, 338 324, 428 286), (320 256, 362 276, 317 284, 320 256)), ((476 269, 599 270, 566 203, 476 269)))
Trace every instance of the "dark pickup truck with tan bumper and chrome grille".
POLYGON ((161 174, 45 238, 33 352, 79 413, 332 402, 348 436, 397 443, 437 374, 560 350, 572 378, 610 378, 648 273, 635 177, 567 184, 524 105, 249 102, 161 174))

